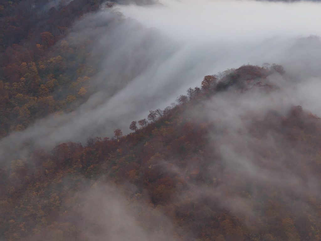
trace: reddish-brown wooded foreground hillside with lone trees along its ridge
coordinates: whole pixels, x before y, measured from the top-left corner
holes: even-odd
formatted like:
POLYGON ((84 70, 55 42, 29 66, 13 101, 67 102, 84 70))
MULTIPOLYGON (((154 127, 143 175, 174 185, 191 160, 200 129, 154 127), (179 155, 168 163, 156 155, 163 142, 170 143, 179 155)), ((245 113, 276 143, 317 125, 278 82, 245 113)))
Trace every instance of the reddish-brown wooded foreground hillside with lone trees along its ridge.
POLYGON ((1 239, 319 240, 320 119, 248 106, 275 101, 280 75, 272 65, 205 76, 126 136, 12 160, 1 168, 1 239))

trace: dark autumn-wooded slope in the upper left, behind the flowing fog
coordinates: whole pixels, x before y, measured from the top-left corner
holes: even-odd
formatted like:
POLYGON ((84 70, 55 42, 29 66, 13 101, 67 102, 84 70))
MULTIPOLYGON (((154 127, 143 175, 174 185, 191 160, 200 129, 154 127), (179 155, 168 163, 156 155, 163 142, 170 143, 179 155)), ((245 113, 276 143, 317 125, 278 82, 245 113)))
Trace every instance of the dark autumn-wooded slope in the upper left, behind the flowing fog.
POLYGON ((100 4, 27 0, 0 5, 0 137, 84 102, 95 72, 86 63, 93 43, 64 39, 75 20, 101 10, 100 4))

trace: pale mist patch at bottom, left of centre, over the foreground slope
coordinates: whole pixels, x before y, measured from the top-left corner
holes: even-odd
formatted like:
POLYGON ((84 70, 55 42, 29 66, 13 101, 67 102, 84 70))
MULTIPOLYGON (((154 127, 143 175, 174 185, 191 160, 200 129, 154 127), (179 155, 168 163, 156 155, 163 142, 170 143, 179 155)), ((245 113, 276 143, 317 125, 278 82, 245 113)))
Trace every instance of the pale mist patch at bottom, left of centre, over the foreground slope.
POLYGON ((77 193, 75 200, 80 208, 68 211, 65 217, 75 219, 78 216, 74 222, 82 232, 77 240, 175 240, 169 218, 147 204, 142 210, 141 203, 128 203, 126 195, 128 193, 106 183, 77 193), (141 216, 141 220, 135 220, 135 216, 141 216))

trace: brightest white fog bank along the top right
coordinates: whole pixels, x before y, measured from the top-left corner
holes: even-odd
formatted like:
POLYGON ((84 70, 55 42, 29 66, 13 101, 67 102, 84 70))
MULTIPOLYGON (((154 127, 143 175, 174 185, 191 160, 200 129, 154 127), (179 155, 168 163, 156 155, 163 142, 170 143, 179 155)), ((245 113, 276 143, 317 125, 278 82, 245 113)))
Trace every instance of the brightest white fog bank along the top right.
POLYGON ((311 2, 164 0, 148 7, 120 6, 120 11, 183 42, 252 44, 274 36, 318 34, 319 8, 311 2))

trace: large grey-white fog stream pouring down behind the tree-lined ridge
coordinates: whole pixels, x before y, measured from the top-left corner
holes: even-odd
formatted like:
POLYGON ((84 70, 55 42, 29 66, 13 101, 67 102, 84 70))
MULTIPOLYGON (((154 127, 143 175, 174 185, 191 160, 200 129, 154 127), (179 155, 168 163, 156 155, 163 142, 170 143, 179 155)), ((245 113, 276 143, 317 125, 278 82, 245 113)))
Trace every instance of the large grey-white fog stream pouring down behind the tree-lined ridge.
MULTIPOLYGON (((279 63, 292 77, 293 104, 321 114, 321 5, 312 2, 159 1, 118 5, 85 17, 70 38, 95 38, 96 92, 73 113, 37 121, 1 140, 8 152, 24 142, 55 145, 128 133, 129 123, 164 108, 205 75, 250 63, 279 63), (122 13, 122 14, 120 14, 122 13), (304 81, 304 84, 302 84, 304 81)), ((291 83, 292 83, 291 82, 291 83)))

